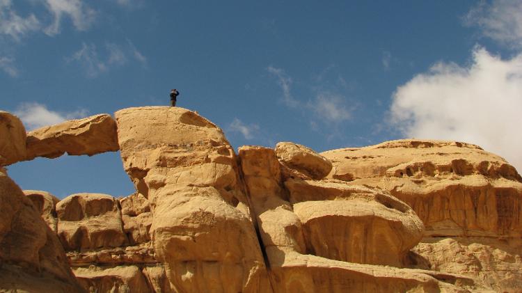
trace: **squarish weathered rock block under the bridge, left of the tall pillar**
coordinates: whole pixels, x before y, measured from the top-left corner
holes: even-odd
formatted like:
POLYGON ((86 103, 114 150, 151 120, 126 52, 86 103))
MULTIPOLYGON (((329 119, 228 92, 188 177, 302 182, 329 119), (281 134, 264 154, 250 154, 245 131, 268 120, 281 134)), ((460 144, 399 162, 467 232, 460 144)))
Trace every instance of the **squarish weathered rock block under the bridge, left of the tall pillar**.
POLYGON ((123 246, 118 200, 100 193, 77 193, 56 205, 58 237, 66 251, 123 246))

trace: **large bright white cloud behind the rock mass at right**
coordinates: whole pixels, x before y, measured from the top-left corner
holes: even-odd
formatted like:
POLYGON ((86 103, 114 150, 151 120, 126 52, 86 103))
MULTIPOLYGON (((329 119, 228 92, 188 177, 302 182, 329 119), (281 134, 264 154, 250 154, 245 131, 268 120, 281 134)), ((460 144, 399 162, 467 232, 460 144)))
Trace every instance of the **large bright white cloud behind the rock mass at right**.
POLYGON ((522 171, 522 54, 509 60, 475 47, 473 64, 437 63, 393 95, 393 123, 406 136, 466 141, 522 171))

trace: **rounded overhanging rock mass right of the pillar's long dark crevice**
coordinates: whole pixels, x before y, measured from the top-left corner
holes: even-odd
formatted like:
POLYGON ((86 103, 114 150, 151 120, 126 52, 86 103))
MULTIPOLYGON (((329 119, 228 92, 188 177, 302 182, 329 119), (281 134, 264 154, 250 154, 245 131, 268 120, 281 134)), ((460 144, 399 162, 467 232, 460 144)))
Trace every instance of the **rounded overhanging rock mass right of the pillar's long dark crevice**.
POLYGON ((420 219, 400 200, 286 177, 269 148, 242 147, 239 157, 275 292, 458 290, 423 271, 368 265, 402 266, 422 236, 420 219))

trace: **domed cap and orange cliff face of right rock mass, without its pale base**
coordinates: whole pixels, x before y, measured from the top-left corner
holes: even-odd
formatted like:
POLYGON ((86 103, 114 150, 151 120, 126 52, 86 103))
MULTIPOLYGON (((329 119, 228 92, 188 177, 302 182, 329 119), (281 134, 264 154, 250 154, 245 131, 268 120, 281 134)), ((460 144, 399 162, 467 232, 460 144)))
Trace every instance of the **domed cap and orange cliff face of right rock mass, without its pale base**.
POLYGON ((403 140, 322 155, 333 162, 329 177, 388 190, 410 205, 426 235, 522 236, 522 178, 476 145, 403 140))

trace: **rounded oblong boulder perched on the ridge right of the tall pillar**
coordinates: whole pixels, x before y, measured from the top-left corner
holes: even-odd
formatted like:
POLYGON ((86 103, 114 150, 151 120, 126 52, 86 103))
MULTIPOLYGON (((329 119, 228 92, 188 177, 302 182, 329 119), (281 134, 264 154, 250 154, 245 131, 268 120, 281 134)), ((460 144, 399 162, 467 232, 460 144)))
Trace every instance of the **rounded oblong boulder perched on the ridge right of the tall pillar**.
POLYGON ((316 180, 326 177, 332 169, 332 164, 328 159, 297 143, 278 143, 276 155, 283 164, 316 180))

